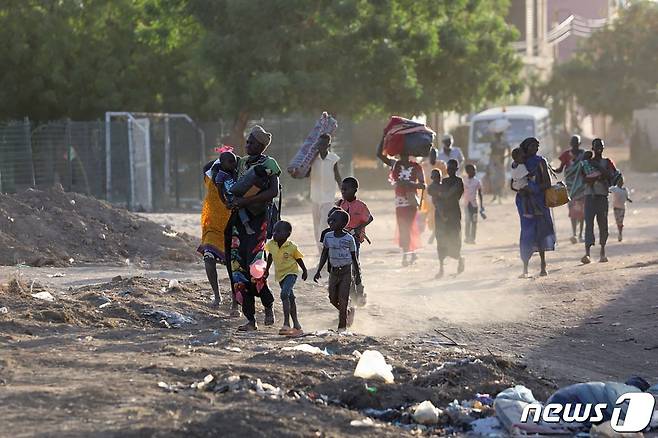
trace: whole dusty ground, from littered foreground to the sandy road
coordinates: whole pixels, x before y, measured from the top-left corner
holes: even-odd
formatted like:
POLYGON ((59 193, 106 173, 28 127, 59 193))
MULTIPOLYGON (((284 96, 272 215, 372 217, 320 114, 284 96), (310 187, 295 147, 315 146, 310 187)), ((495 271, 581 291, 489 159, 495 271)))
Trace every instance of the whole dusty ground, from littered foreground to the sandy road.
MULTIPOLYGON (((517 278, 511 197, 487 206, 477 245, 465 246, 466 272, 435 280, 432 245, 421 250, 416 265, 399 265, 391 193, 364 191, 376 219, 369 229, 373 245, 362 249, 369 302, 357 312, 356 336, 321 333, 290 342, 276 335, 278 326, 237 335, 241 321, 228 318, 226 306, 207 307, 200 264, 166 271, 0 267, 0 307, 8 309, 0 314, 0 435, 399 436, 408 429, 380 421, 376 429, 357 429, 350 421, 363 419, 366 408, 424 399, 445 407, 453 398, 495 394, 510 384, 525 384, 541 399, 555 385, 577 381, 639 374, 656 383, 657 182, 658 175, 627 174, 635 202, 628 206, 623 243, 611 226, 607 264, 580 265, 582 245, 569 243, 566 208, 556 209, 559 247, 548 256, 549 276, 533 279, 517 278), (10 285, 12 278, 19 281, 10 285), (181 287, 168 291, 174 278, 181 287), (30 296, 42 291, 55 302, 30 296), (175 310, 194 323, 169 329, 142 316, 151 309, 175 310), (442 334, 460 345, 447 346, 442 334), (331 354, 281 350, 301 342, 331 354), (368 348, 394 366, 395 384, 368 381, 377 388, 368 390, 351 377, 352 352, 368 348), (189 388, 208 374, 215 377, 212 391, 189 388), (239 382, 224 385, 231 375, 239 382), (248 390, 257 378, 280 387, 282 398, 248 390)), ((307 264, 315 264, 308 209, 288 208, 284 216, 293 222, 307 264)), ((198 214, 149 218, 199 234, 198 214)), ((456 263, 447 269, 454 272, 456 263)), ((334 327, 324 284, 298 285, 305 330, 334 327)), ((225 279, 221 287, 228 290, 225 279)))

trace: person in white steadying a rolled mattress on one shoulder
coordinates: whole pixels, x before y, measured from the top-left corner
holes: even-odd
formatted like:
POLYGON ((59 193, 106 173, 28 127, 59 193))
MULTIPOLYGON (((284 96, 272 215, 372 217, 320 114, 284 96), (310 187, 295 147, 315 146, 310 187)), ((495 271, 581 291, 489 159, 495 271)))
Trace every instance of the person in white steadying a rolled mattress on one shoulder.
POLYGON ((318 139, 318 156, 311 164, 311 203, 313 204, 313 230, 315 244, 322 253, 320 234, 327 228, 327 216, 334 206, 336 187, 343 182, 338 171, 340 157, 331 152, 331 136, 322 134, 318 139))

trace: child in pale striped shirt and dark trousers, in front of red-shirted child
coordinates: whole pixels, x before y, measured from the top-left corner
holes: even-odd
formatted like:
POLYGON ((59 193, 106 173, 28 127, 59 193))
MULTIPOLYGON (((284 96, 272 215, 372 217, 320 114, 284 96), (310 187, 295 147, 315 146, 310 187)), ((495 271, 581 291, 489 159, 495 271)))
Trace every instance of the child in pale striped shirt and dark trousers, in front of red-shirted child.
POLYGON ((361 270, 356 256, 354 237, 346 233, 344 228, 350 221, 350 215, 344 210, 335 210, 329 216, 329 231, 324 236, 322 256, 313 281, 320 279, 320 271, 327 260, 331 263, 329 274, 329 301, 338 309, 338 331, 345 331, 354 321, 354 307, 349 307, 350 284, 352 283, 352 268, 354 282, 361 284, 361 270))

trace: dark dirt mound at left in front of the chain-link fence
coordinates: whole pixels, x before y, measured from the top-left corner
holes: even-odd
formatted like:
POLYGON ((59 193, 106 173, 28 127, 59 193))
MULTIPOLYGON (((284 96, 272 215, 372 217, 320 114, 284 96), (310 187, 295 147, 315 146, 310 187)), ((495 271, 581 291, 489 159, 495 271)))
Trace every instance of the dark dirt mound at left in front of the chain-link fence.
POLYGON ((61 187, 0 194, 0 264, 191 262, 195 239, 61 187))

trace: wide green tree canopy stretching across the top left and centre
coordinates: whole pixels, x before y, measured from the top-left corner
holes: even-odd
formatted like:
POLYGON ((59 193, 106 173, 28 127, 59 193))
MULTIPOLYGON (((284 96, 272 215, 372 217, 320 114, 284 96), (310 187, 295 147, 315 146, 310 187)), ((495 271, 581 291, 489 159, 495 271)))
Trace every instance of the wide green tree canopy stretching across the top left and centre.
POLYGON ((520 90, 506 0, 5 0, 0 118, 468 111, 520 90))

